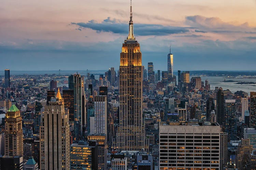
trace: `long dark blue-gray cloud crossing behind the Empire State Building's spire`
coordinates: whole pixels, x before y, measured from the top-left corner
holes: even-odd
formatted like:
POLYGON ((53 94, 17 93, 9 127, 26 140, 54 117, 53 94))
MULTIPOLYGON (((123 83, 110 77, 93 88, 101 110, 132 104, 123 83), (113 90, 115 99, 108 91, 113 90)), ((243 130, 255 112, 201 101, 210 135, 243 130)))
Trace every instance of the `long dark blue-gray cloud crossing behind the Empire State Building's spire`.
MULTIPOLYGON (((101 23, 98 23, 95 20, 90 20, 86 23, 79 22, 71 24, 76 24, 80 28, 89 28, 92 30, 100 32, 112 32, 115 34, 127 34, 128 33, 128 24, 117 19, 111 19, 108 17, 103 20, 101 23)), ((170 35, 170 34, 179 34, 187 33, 189 29, 193 27, 172 27, 172 26, 163 26, 160 24, 142 24, 134 23, 134 33, 136 35, 146 36, 146 35, 170 35)))

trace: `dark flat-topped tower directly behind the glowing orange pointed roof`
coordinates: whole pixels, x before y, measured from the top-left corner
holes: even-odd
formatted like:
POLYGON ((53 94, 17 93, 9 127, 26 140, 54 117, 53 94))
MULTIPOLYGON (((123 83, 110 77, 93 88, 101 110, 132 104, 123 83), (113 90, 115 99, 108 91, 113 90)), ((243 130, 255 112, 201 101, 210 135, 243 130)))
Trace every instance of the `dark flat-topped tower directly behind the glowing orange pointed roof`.
POLYGON ((69 110, 69 121, 74 121, 74 90, 62 90, 64 107, 69 110))

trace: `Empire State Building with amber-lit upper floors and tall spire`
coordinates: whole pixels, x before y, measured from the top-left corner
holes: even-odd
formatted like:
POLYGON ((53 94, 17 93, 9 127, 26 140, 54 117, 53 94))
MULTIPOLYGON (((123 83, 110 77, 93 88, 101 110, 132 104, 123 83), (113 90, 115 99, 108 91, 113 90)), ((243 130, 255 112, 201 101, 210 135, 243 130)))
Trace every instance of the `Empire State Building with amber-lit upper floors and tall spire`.
POLYGON ((133 35, 132 7, 129 34, 120 53, 120 122, 117 132, 118 151, 144 148, 145 129, 142 118, 142 56, 133 35))

